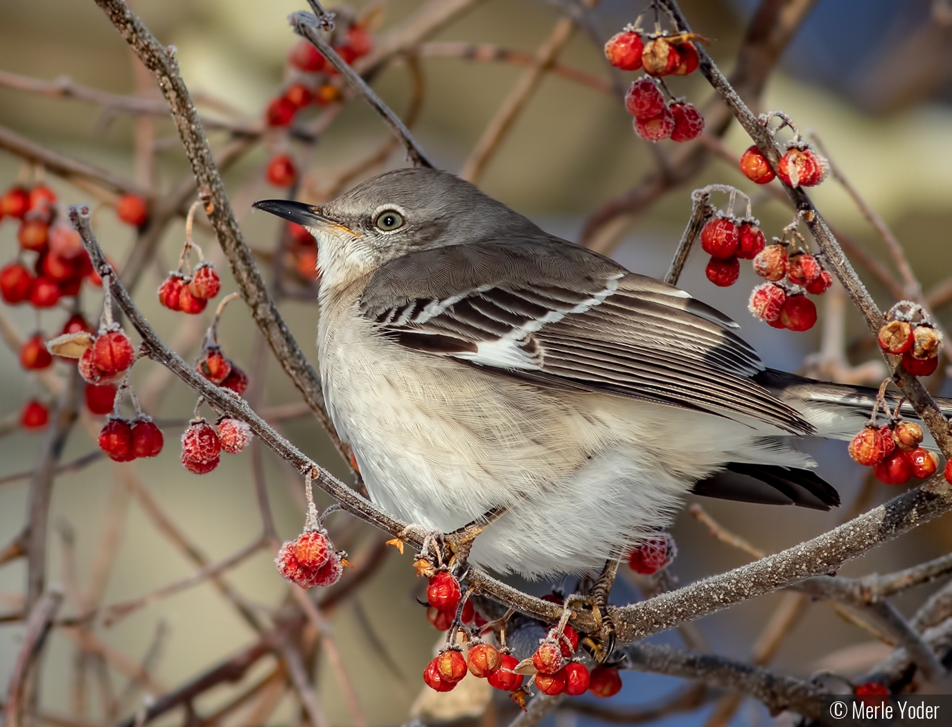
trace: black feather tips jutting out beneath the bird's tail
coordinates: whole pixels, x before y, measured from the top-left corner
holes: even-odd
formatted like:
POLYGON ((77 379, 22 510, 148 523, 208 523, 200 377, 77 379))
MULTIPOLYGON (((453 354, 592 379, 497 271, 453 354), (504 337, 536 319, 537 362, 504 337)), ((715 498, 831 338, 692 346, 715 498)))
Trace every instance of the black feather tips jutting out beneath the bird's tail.
POLYGON ((840 504, 840 494, 810 470, 774 464, 730 462, 721 472, 695 484, 691 491, 708 498, 799 505, 813 510, 829 510, 840 504))

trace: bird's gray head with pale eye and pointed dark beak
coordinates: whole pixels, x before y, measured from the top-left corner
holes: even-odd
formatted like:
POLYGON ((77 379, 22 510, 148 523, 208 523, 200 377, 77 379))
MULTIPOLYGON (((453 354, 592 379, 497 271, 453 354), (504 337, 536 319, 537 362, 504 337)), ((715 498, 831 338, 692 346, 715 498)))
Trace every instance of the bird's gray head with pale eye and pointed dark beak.
POLYGON ((254 206, 314 235, 322 285, 347 285, 415 250, 545 234, 477 187, 437 169, 388 171, 325 205, 263 200, 254 206))

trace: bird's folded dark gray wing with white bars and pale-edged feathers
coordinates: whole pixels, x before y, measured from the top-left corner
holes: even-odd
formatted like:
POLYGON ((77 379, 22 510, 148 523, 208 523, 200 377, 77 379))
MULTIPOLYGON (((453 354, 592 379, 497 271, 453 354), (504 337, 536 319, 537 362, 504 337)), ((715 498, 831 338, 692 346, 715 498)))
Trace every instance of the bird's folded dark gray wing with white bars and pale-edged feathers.
POLYGON ((382 266, 361 309, 399 344, 545 385, 812 427, 751 377, 738 326, 557 238, 446 246, 382 266))

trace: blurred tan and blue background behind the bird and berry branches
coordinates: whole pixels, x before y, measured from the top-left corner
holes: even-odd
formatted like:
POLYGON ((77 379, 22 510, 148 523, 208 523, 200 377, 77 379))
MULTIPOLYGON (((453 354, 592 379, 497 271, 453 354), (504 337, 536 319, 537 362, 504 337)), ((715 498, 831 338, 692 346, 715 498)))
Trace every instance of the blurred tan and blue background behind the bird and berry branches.
MULTIPOLYGON (((357 17, 368 19, 376 38, 412 20, 425 5, 415 0, 391 0, 354 2, 349 7, 357 17)), ((682 9, 693 28, 710 40, 708 51, 729 74, 743 43, 744 29, 759 5, 755 0, 684 0, 682 9)), ((783 109, 804 132, 819 135, 836 166, 902 243, 939 320, 948 324, 949 311, 944 305, 952 301, 952 8, 945 2, 928 0, 819 0, 785 5, 805 8, 800 10, 802 27, 769 74, 760 99, 751 99, 751 103, 756 110, 783 109)), ((307 134, 301 141, 300 135, 295 137, 285 129, 262 131, 264 108, 288 80, 288 50, 296 41, 288 27, 288 13, 305 10, 305 3, 138 0, 133 7, 162 43, 177 49, 185 80, 203 112, 211 118, 257 129, 256 143, 248 145, 230 164, 225 180, 248 243, 261 253, 259 262, 268 265, 266 269, 282 269, 285 262, 279 260, 280 265, 274 265, 274 258, 287 246, 279 246, 278 221, 264 214, 249 214, 249 205, 256 199, 284 193, 266 179, 268 160, 275 154, 288 152, 294 156, 304 172, 300 196, 314 201, 335 187, 347 188, 383 168, 405 164, 403 151, 392 150, 382 166, 344 179, 344 173, 356 161, 388 139, 387 128, 360 100, 341 105, 339 113, 324 122, 321 114, 327 114, 331 107, 308 111, 300 124, 295 122, 295 128, 317 129, 316 143, 308 142, 307 134)), ((422 88, 422 106, 414 134, 440 167, 458 171, 525 72, 517 55, 476 60, 466 57, 472 53, 461 49, 486 44, 531 56, 545 42, 565 8, 576 7, 568 0, 470 3, 466 11, 423 39, 415 62, 422 86, 413 80, 410 67, 414 64, 398 58, 374 74, 373 87, 403 115, 412 106, 417 83, 416 92, 422 88)), ((635 136, 630 117, 612 91, 612 82, 628 81, 609 72, 602 44, 633 21, 640 10, 637 3, 605 0, 595 10, 585 12, 585 27, 574 33, 558 59, 568 71, 545 75, 511 132, 487 160, 485 173, 478 181, 487 194, 568 240, 582 240, 583 231, 590 232, 586 222, 590 223, 592 215, 609 200, 644 184, 643 180, 659 165, 672 164, 672 160, 677 163, 677 155, 687 153, 671 142, 653 148, 635 136), (572 71, 577 71, 574 76, 572 71)), ((47 82, 68 76, 85 87, 161 101, 151 89, 148 73, 137 68, 126 43, 92 2, 6 0, 0 6, 0 16, 0 70, 7 74, 0 78, 0 127, 134 180, 155 196, 186 178, 187 161, 175 128, 166 118, 136 117, 84 100, 53 98, 35 92, 35 88, 24 89, 21 81, 10 80, 10 74, 47 82), (20 88, 14 88, 17 85, 20 88), (154 151, 145 160, 143 144, 154 151)), ((712 95, 700 74, 675 79, 670 85, 676 94, 686 96, 702 109, 712 95)), ((209 128, 208 138, 213 148, 229 143, 228 130, 220 128, 209 128)), ((731 126, 724 134, 723 145, 716 141, 712 144, 716 150, 705 156, 696 173, 665 188, 651 204, 632 208, 596 233, 585 232, 586 239, 594 240, 629 268, 661 277, 686 223, 691 189, 712 183, 734 185, 748 192, 753 198, 753 213, 767 237, 780 234, 792 219, 790 209, 768 191, 755 188, 736 164, 728 161, 749 146, 743 130, 731 126)), ((25 168, 20 156, 0 150, 0 187, 6 188, 18 179, 25 182, 31 173, 34 170, 25 168)), ((93 203, 100 243, 121 268, 136 242, 136 230, 116 219, 114 195, 97 195, 88 186, 69 185, 50 173, 45 179, 63 204, 93 203)), ((882 235, 841 185, 829 180, 811 191, 811 196, 844 241, 887 272, 895 270, 882 235)), ((714 203, 723 207, 726 200, 715 198, 714 203)), ((174 266, 183 239, 184 221, 175 219, 162 235, 154 259, 144 268, 136 300, 164 340, 187 360, 193 360, 212 308, 209 306, 201 317, 184 320, 160 307, 151 292, 174 266)), ((196 241, 219 264, 224 290, 234 290, 224 258, 207 228, 197 229, 196 241)), ((3 263, 15 256, 16 246, 16 226, 10 220, 0 222, 3 263)), ((821 322, 810 331, 791 333, 770 328, 745 310, 748 291, 757 284, 749 266, 743 266, 738 285, 715 288, 704 278, 702 258, 699 253, 688 261, 681 280, 686 290, 739 321, 744 337, 762 353, 767 365, 823 374, 816 363, 811 367, 808 361, 821 347, 826 320, 823 305, 821 322)), ((308 358, 316 364, 313 288, 295 272, 295 263, 286 267, 290 293, 282 300, 282 312, 308 358)), ((883 308, 896 301, 897 291, 883 282, 883 276, 861 262, 857 267, 883 308)), ((888 274, 893 280, 901 280, 895 272, 888 274)), ((84 288, 81 304, 90 320, 98 315, 100 300, 99 288, 84 288)), ((21 338, 35 329, 53 335, 68 315, 58 308, 40 314, 9 305, 0 307, 0 314, 21 338)), ((850 310, 844 318, 836 315, 836 320, 845 324, 839 350, 848 356, 841 362, 841 369, 877 358, 863 342, 859 316, 850 310)), ((835 352, 836 331, 827 332, 833 336, 835 352)), ((228 307, 220 326, 220 341, 228 356, 251 373, 250 401, 269 413, 292 442, 347 480, 346 463, 340 461, 319 425, 301 408, 296 391, 280 367, 268 360, 270 353, 264 352, 242 305, 228 307)), ((69 363, 57 362, 54 366, 65 375, 69 363)), ((944 382, 941 369, 930 383, 934 390, 949 395, 944 382)), ((98 594, 97 599, 109 604, 136 599, 194 573, 198 566, 186 554, 189 547, 192 555, 197 550, 208 562, 228 557, 256 540, 261 531, 255 472, 267 482, 280 537, 288 539, 300 532, 302 482, 287 465, 258 450, 253 457, 245 452, 223 458, 222 465, 205 477, 188 474, 177 459, 177 438, 194 406, 193 394, 155 363, 137 365, 133 384, 144 401, 153 404, 154 408, 147 406, 147 411, 166 427, 166 450, 154 460, 129 464, 99 459, 56 480, 50 509, 51 581, 77 584, 89 598, 98 594)), ((0 545, 14 539, 24 522, 28 475, 43 437, 15 425, 21 406, 30 396, 49 394, 43 383, 21 369, 15 350, 0 346, 0 418, 5 417, 7 422, 0 437, 0 545)), ((94 451, 94 435, 101 424, 84 410, 80 425, 69 437, 62 462, 74 462, 94 451)), ((837 512, 699 502, 732 532, 757 548, 775 552, 897 494, 896 488, 864 483, 867 471, 848 459, 843 443, 815 443, 812 447, 821 463, 821 475, 843 496, 843 507, 837 512)), ((454 692, 455 707, 435 705, 431 695, 420 701, 420 674, 442 639, 426 622, 425 609, 417 602, 423 596, 425 582, 414 578, 409 553, 400 556, 393 548, 383 548, 379 534, 347 516, 334 516, 332 523, 335 542, 346 547, 351 556, 365 559, 362 562, 373 560, 374 566, 368 569, 361 587, 327 613, 339 660, 328 657, 327 649, 314 650, 313 675, 329 723, 355 723, 347 689, 342 688, 342 670, 349 676, 371 725, 404 723, 411 711, 427 723, 440 717, 454 718, 461 724, 507 723, 514 712, 505 694, 497 695, 496 703, 488 710, 486 695, 479 690, 463 696, 462 690, 460 694, 454 692)), ((947 517, 932 521, 849 563, 841 573, 884 573, 942 555, 952 546, 948 526, 947 517)), ((680 554, 670 570, 681 583, 750 560, 743 552, 711 538, 704 525, 686 511, 672 533, 680 554)), ((226 580, 233 594, 238 594, 236 598, 263 612, 278 613, 282 607, 292 606, 293 600, 272 558, 268 549, 258 550, 228 570, 226 580)), ((0 615, 15 614, 22 607, 25 578, 22 559, 0 568, 0 615)), ((571 589, 573 583, 521 585, 541 594, 554 585, 571 589)), ((930 590, 925 586, 895 600, 904 613, 910 614, 930 590)), ((613 600, 640 598, 639 582, 626 573, 616 586, 613 600)), ((750 658, 754 641, 784 598, 783 594, 774 594, 733 607, 701 620, 697 630, 714 653, 750 658)), ((78 612, 77 604, 68 599, 62 614, 78 612)), ((889 652, 886 644, 844 620, 828 603, 803 604, 797 614, 772 662, 780 672, 805 677, 828 669, 853 677, 889 652)), ((0 685, 4 688, 22 637, 22 620, 0 620, 0 685)), ((157 696, 202 674, 247 648, 254 639, 248 623, 208 580, 182 588, 168 598, 154 599, 111 626, 100 625, 92 631, 57 630, 42 669, 41 712, 50 723, 67 727, 116 723, 133 714, 144 695, 157 696), (148 678, 143 678, 140 668, 144 659, 148 678)), ((673 633, 655 640, 681 643, 673 633)), ((195 718, 213 715, 242 689, 268 678, 274 669, 274 659, 265 658, 238 683, 208 691, 194 703, 195 718)), ((650 704, 682 688, 677 679, 635 672, 626 672, 624 682, 623 693, 612 700, 613 707, 650 704)), ((591 702, 593 698, 581 700, 591 702)), ((301 720, 290 692, 277 687, 266 685, 248 704, 235 707, 221 722, 291 724, 301 720), (260 698, 266 692, 273 695, 273 704, 260 698)), ((664 723, 704 724, 716 704, 716 700, 708 699, 697 710, 666 717, 664 723)), ((571 710, 550 719, 565 727, 597 723, 595 717, 571 710)), ((770 717, 759 704, 746 701, 730 719, 733 724, 756 724, 770 717)), ((162 717, 163 724, 184 720, 181 708, 162 717)))

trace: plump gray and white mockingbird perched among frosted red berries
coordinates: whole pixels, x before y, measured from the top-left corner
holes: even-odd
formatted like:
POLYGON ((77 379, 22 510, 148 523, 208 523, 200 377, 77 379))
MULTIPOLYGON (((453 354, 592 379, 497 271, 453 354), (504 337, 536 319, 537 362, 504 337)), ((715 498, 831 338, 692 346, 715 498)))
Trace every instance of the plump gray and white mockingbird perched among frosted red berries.
POLYGON ((839 504, 795 445, 848 440, 876 392, 764 368, 683 290, 433 169, 254 206, 317 239, 327 408, 372 500, 441 532, 506 507, 470 560, 597 572, 692 491, 839 504))

